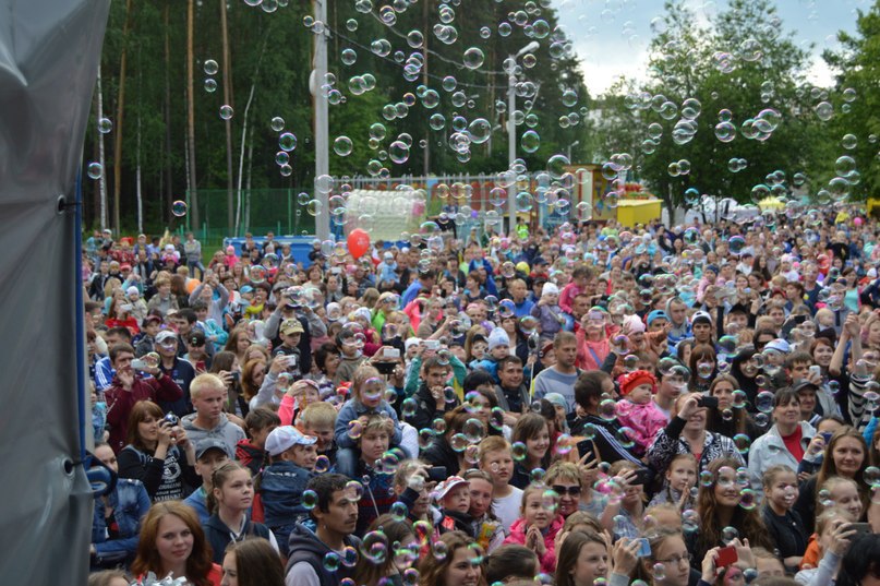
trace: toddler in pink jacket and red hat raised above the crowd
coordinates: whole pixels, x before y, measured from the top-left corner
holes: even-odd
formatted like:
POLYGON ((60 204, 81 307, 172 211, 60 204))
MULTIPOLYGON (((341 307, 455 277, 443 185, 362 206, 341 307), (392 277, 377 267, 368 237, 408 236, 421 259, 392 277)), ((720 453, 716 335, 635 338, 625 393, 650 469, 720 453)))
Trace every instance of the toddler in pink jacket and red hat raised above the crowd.
POLYGON ((623 397, 617 403, 617 421, 631 430, 629 438, 636 442, 632 451, 643 456, 656 432, 668 422, 652 398, 656 393, 656 379, 647 370, 636 370, 620 375, 617 384, 623 397))

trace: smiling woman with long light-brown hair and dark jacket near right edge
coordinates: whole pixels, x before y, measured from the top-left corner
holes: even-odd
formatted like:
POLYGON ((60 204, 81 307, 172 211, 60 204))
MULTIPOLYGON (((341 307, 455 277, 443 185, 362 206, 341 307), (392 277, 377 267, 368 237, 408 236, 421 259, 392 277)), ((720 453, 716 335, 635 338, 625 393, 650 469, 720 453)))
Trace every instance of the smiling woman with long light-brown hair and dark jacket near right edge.
POLYGON ((822 467, 816 476, 800 485, 800 494, 795 503, 795 511, 800 515, 808 533, 813 531, 816 522, 816 501, 820 487, 832 476, 842 476, 855 480, 864 511, 868 510, 870 487, 865 482, 865 469, 868 462, 868 444, 865 438, 854 428, 842 427, 828 441, 822 456, 822 467))

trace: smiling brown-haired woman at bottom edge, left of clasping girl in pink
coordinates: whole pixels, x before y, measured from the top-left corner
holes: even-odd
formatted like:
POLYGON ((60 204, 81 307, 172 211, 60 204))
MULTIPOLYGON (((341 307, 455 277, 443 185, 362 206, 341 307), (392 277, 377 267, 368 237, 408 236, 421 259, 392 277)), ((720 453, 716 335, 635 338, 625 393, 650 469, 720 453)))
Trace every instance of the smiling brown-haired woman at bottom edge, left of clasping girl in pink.
POLYGON ((486 586, 483 554, 477 542, 461 531, 443 534, 432 547, 443 543, 445 555, 429 553, 419 563, 419 586, 486 586))

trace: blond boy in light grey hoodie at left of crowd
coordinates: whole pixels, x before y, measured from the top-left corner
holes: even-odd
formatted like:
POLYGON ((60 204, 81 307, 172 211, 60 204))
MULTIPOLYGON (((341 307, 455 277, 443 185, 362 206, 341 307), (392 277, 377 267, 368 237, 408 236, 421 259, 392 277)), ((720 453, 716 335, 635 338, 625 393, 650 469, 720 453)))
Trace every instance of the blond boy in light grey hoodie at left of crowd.
POLYGON ((236 445, 245 438, 244 430, 229 420, 224 412, 228 392, 226 383, 216 374, 200 374, 190 383, 190 397, 194 414, 181 420, 183 429, 191 442, 207 438, 226 442, 227 453, 231 454, 236 445))

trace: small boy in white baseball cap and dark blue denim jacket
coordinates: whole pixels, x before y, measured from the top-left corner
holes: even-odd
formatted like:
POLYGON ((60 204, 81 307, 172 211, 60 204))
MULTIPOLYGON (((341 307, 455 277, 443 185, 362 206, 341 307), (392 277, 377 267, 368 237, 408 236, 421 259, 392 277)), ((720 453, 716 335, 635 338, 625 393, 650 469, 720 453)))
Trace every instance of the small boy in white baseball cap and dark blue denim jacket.
POLYGON ((302 504, 302 493, 315 476, 317 438, 302 434, 293 426, 276 428, 266 438, 266 451, 272 464, 263 470, 260 494, 263 500, 264 523, 278 540, 282 555, 293 526, 309 516, 302 504))

